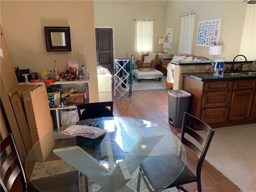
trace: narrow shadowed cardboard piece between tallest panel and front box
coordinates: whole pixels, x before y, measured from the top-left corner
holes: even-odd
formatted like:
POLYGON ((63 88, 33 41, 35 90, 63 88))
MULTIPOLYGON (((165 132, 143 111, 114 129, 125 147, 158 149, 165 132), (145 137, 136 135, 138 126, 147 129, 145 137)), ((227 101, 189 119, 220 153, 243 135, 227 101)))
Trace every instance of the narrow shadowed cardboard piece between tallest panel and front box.
POLYGON ((22 139, 25 144, 27 153, 30 152, 33 145, 32 145, 32 140, 30 136, 30 131, 28 128, 28 123, 26 120, 26 112, 25 112, 23 97, 22 97, 22 94, 19 95, 18 92, 21 90, 23 91, 28 90, 29 88, 32 88, 32 85, 26 86, 22 89, 20 89, 20 86, 17 86, 16 88, 14 88, 12 91, 8 93, 12 102, 14 114, 16 116, 16 120, 18 122, 20 133, 22 135, 22 139))

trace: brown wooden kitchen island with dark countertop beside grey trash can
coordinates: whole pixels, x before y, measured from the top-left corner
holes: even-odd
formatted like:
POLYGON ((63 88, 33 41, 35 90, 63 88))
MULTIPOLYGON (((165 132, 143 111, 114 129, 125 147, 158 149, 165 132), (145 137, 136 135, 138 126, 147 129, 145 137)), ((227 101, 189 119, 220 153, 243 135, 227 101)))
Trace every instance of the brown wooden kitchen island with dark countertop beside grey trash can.
POLYGON ((224 73, 214 78, 206 72, 182 73, 182 90, 192 94, 194 116, 212 128, 256 122, 256 73, 224 73))

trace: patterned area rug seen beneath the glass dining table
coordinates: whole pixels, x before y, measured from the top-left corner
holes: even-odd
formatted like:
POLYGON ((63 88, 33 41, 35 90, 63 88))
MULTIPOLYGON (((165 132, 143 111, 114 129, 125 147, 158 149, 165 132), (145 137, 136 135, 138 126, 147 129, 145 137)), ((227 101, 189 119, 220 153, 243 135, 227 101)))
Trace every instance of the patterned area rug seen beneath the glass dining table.
MULTIPOLYGON (((60 173, 70 172, 76 170, 74 167, 70 166, 64 160, 55 160, 49 162, 36 162, 30 180, 40 179, 47 176, 52 176, 60 173)), ((137 186, 137 177, 138 177, 138 170, 132 174, 131 180, 127 183, 132 188, 136 189, 137 186)), ((100 186, 93 182, 92 180, 88 179, 89 183, 89 192, 98 192, 100 190, 100 186)), ((80 174, 80 192, 85 192, 85 182, 84 182, 84 175, 80 174)), ((143 181, 140 184, 140 192, 148 192, 146 185, 143 181)), ((163 190, 163 192, 178 192, 176 188, 170 188, 163 190)))

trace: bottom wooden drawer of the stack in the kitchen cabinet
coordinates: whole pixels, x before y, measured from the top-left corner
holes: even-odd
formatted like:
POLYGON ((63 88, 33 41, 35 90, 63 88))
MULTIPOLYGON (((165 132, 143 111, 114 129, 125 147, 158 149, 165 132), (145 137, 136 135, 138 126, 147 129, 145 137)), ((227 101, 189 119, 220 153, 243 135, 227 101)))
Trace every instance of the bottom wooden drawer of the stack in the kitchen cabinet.
POLYGON ((202 110, 202 121, 205 123, 225 122, 228 120, 228 108, 202 110))

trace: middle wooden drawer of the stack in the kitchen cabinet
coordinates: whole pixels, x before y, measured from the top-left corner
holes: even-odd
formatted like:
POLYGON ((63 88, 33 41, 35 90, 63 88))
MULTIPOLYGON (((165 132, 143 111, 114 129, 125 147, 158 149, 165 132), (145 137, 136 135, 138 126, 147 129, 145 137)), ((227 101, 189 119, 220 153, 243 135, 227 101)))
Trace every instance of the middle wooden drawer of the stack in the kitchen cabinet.
POLYGON ((231 92, 205 93, 203 97, 203 108, 225 107, 230 104, 231 92))

